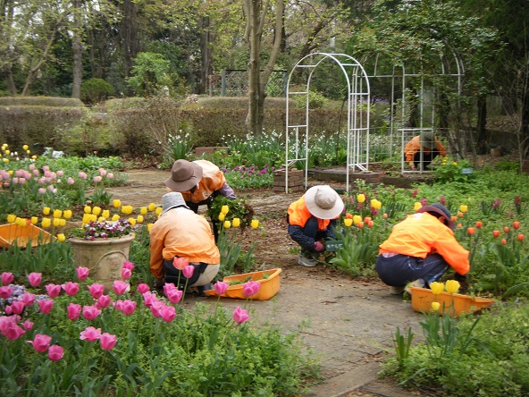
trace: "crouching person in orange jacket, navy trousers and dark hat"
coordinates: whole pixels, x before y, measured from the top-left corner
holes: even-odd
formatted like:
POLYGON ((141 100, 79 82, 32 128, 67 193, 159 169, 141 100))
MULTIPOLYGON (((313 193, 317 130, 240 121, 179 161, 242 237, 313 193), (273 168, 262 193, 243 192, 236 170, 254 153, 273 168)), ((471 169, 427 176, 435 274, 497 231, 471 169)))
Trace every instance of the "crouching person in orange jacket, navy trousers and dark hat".
POLYGON ((376 271, 391 293, 404 291, 407 283, 428 288, 451 266, 458 275, 470 269, 468 251, 454 237, 449 210, 432 204, 393 226, 388 240, 380 245, 376 271))

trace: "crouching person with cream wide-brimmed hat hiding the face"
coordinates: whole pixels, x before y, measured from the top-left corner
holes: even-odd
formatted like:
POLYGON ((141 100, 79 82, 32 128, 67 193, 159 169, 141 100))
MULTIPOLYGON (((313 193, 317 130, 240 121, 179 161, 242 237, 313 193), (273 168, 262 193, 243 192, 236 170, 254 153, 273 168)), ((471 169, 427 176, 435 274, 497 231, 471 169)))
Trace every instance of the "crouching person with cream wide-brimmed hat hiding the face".
POLYGON ((325 239, 334 239, 332 228, 344 208, 340 195, 327 185, 313 186, 290 204, 289 234, 301 246, 298 265, 316 266, 315 256, 325 249, 325 239))

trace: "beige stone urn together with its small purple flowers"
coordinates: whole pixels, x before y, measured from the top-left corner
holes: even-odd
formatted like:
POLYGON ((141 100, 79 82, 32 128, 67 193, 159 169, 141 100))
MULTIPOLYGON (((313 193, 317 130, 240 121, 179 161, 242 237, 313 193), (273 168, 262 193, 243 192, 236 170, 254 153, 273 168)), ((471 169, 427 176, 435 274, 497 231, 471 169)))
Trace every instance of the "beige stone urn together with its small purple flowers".
POLYGON ((90 221, 71 231, 75 266, 90 269, 90 276, 110 288, 121 276, 123 262, 129 260, 130 243, 136 236, 126 219, 90 221))

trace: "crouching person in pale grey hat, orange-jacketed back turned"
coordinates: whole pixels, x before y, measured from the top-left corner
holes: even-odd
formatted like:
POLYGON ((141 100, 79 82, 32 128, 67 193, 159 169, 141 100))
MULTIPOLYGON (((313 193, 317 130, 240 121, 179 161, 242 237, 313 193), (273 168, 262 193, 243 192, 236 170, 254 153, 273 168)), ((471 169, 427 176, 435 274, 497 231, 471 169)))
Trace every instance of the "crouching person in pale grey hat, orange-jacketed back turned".
POLYGON ((209 284, 219 272, 221 255, 206 219, 186 206, 181 193, 172 191, 162 197, 162 213, 150 235, 150 267, 155 287, 174 283, 197 287, 199 292, 211 289, 209 284), (187 280, 173 265, 175 258, 186 258, 195 267, 187 280))

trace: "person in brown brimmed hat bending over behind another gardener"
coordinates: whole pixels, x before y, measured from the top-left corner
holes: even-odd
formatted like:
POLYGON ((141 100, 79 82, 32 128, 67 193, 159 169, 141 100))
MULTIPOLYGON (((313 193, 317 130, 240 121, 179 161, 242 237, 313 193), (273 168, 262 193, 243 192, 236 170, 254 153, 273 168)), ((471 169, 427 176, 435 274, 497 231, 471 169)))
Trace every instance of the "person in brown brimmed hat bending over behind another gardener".
MULTIPOLYGON (((164 184, 168 190, 181 192, 186 205, 196 214, 199 206, 211 208, 215 196, 237 199, 226 182, 224 173, 218 166, 207 160, 176 160, 172 165, 171 176, 164 181, 164 184)), ((217 241, 216 222, 213 222, 213 231, 215 241, 217 241)))

